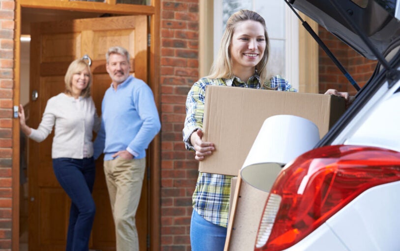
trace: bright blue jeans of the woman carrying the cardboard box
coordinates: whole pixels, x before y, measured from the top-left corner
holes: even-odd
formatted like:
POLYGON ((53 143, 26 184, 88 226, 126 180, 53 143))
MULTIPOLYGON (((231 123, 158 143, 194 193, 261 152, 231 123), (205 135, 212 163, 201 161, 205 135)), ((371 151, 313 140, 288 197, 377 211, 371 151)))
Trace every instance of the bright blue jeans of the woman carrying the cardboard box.
POLYGON ((192 251, 224 251, 227 228, 206 221, 193 209, 190 223, 192 251))

